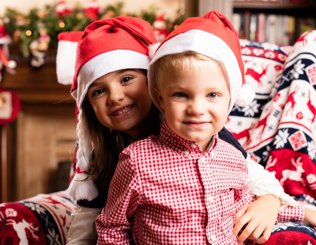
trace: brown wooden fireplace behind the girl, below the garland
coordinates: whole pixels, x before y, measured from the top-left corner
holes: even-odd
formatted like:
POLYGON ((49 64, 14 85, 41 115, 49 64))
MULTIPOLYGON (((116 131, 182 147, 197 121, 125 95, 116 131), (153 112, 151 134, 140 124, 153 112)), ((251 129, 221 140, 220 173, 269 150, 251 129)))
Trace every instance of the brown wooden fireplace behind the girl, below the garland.
POLYGON ((72 160, 76 130, 71 86, 57 82, 56 50, 49 50, 40 68, 15 48, 10 58, 17 62, 16 74, 4 71, 1 85, 19 95, 21 110, 1 127, 2 203, 55 191, 54 171, 59 162, 72 160))

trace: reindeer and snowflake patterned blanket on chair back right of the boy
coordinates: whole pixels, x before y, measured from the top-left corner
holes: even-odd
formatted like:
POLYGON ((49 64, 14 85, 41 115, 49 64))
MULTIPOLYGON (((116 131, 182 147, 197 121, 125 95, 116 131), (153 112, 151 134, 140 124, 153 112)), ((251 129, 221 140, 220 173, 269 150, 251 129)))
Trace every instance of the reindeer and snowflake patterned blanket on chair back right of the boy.
POLYGON ((316 31, 293 46, 246 40, 241 46, 256 96, 247 107, 234 106, 226 127, 285 192, 316 198, 316 31))

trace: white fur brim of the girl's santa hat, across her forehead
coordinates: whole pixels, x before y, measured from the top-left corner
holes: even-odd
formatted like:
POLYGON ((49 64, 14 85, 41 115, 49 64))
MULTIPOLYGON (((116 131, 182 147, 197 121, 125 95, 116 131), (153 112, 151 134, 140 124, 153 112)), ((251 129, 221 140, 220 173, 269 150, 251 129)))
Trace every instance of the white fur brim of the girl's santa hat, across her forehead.
POLYGON ((78 73, 78 88, 72 92, 80 108, 87 90, 97 78, 122 69, 148 69, 150 58, 131 50, 114 50, 86 62, 78 73), (81 82, 84 81, 84 82, 81 82))

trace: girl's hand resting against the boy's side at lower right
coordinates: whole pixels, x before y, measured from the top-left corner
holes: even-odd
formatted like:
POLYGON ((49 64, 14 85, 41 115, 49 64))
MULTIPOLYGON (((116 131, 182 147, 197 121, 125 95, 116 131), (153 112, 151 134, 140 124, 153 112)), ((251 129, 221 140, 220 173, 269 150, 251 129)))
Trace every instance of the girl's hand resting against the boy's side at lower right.
POLYGON ((242 243, 245 239, 251 239, 257 243, 267 241, 276 223, 280 205, 281 202, 278 198, 266 194, 242 207, 236 213, 233 229, 233 234, 238 236, 239 231, 245 225, 237 237, 238 243, 242 243))

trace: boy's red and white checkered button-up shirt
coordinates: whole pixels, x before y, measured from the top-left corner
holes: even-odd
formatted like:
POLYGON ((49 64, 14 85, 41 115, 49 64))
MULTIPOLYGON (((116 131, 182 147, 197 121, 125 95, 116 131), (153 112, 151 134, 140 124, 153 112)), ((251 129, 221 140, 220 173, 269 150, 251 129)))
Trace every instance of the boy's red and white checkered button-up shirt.
MULTIPOLYGON (((251 201, 247 174, 244 157, 218 135, 203 152, 165 122, 159 137, 121 153, 97 244, 237 244, 235 213, 251 201)), ((299 215, 290 210, 285 217, 299 215)))

